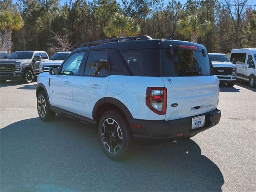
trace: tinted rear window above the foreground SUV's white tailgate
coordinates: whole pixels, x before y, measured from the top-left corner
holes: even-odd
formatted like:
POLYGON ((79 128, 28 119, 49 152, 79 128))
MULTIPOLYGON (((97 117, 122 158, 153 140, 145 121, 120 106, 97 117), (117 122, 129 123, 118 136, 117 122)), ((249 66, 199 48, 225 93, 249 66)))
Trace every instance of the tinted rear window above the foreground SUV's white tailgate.
POLYGON ((163 77, 214 75, 208 55, 204 57, 201 51, 175 49, 172 56, 162 49, 161 65, 163 77))

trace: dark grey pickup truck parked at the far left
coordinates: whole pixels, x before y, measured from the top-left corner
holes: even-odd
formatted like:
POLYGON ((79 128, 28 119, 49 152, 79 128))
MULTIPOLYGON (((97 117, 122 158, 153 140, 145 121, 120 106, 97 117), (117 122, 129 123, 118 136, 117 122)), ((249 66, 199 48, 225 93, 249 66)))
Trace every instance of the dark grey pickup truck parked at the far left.
POLYGON ((44 51, 16 51, 8 58, 0 60, 0 82, 22 80, 31 83, 33 76, 39 74, 39 64, 49 56, 44 51))

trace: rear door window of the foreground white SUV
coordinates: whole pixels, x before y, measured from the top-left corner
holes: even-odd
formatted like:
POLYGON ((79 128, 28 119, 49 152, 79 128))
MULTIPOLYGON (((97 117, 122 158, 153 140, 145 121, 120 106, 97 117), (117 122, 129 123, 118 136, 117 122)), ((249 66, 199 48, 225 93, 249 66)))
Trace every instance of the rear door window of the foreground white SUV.
POLYGON ((90 51, 84 74, 86 76, 106 77, 110 75, 108 50, 90 51))

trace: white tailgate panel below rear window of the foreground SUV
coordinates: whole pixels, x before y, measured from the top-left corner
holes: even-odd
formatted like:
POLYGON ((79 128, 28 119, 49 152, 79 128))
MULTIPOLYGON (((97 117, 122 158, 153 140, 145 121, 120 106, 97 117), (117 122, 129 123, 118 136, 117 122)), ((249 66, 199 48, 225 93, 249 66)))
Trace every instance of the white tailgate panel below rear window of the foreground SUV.
POLYGON ((174 120, 215 110, 219 80, 216 76, 163 77, 167 88, 165 120, 174 120), (178 106, 171 105, 177 103, 178 106), (199 109, 194 107, 200 106, 199 109))

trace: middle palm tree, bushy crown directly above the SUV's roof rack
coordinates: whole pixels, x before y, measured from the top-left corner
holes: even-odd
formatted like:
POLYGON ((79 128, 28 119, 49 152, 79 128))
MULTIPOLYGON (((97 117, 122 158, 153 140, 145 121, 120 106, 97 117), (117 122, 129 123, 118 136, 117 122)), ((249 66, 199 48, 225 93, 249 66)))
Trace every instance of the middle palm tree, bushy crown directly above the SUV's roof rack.
POLYGON ((108 26, 103 28, 103 32, 108 38, 134 36, 140 33, 140 25, 137 25, 133 18, 115 13, 110 18, 108 26))

